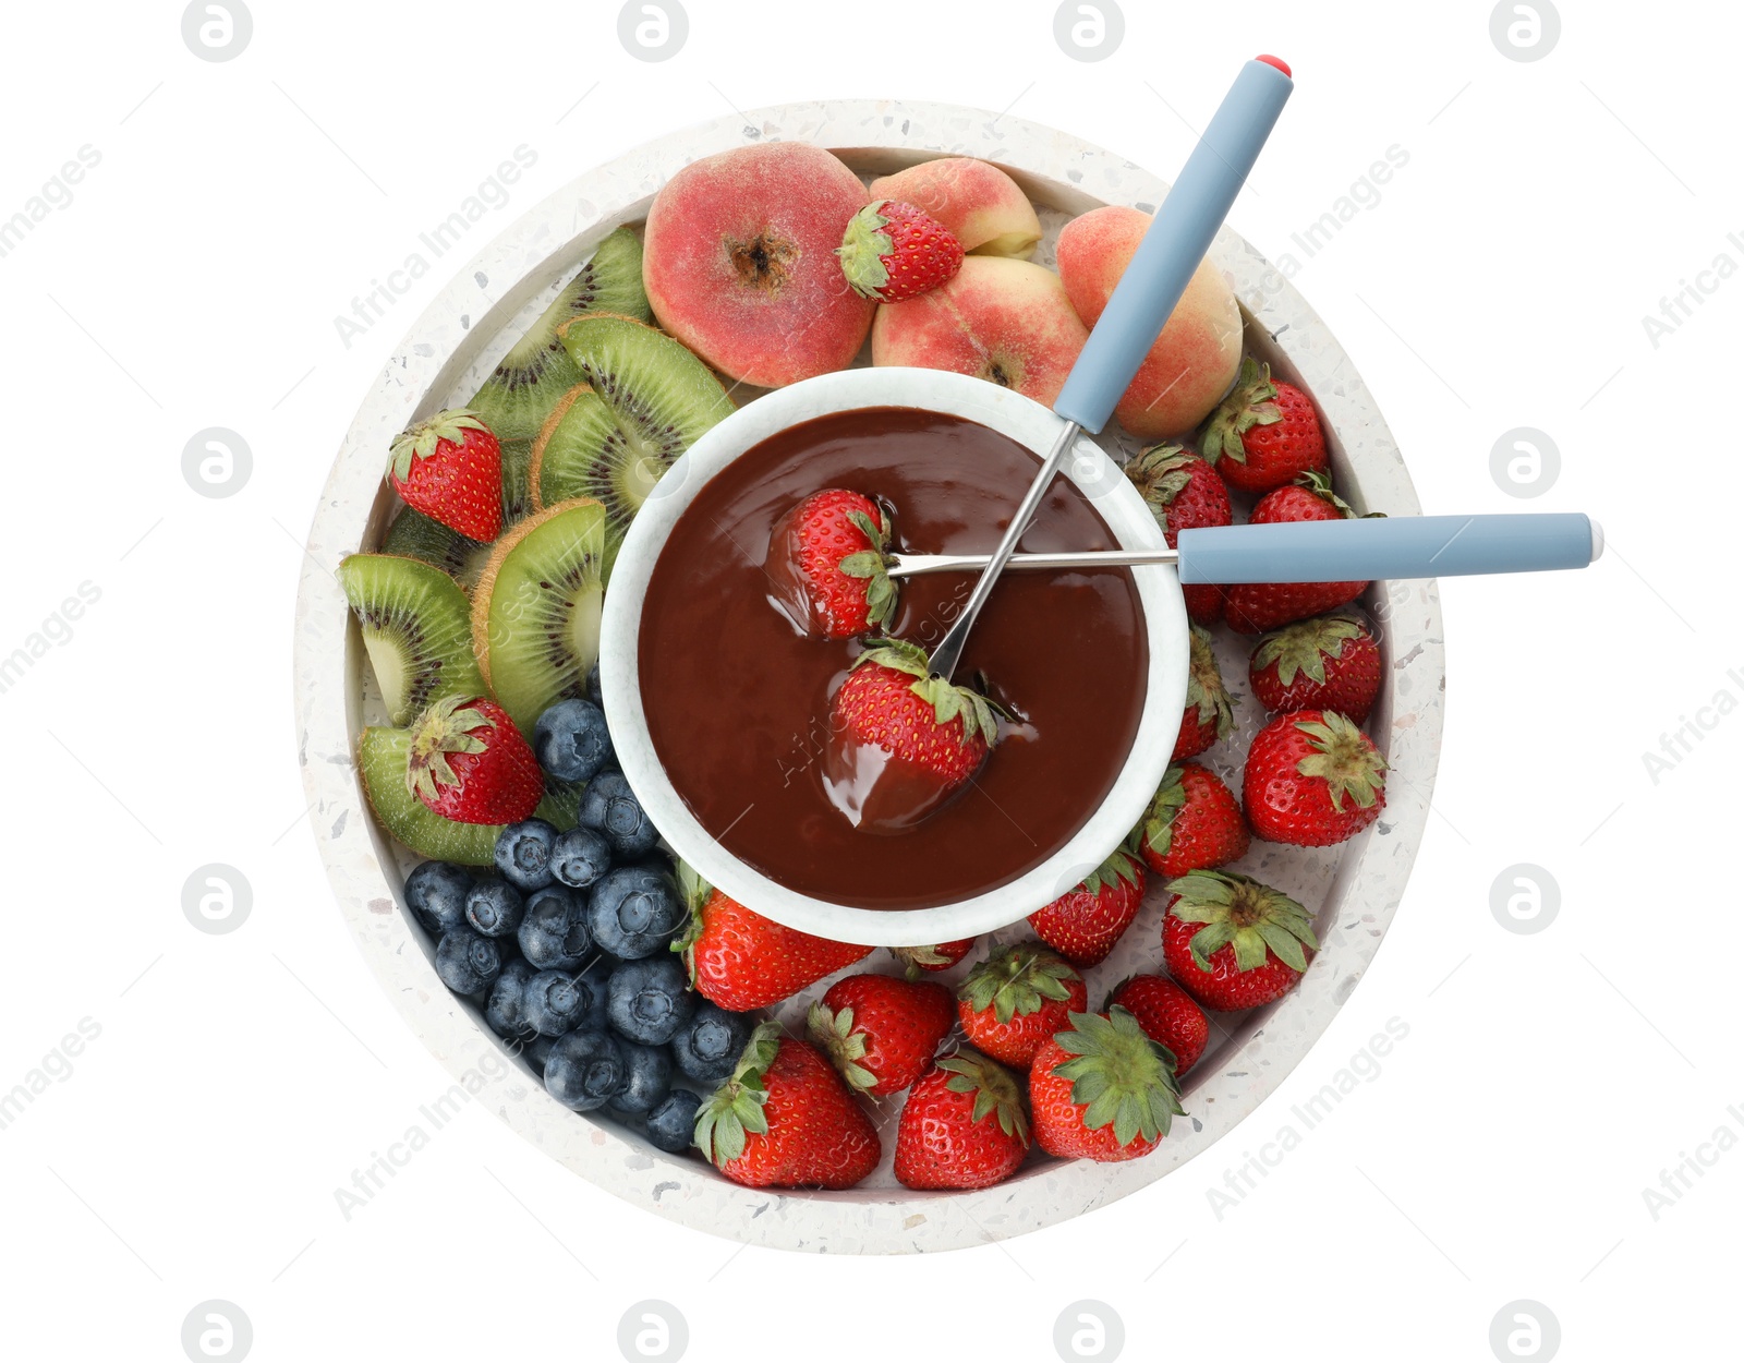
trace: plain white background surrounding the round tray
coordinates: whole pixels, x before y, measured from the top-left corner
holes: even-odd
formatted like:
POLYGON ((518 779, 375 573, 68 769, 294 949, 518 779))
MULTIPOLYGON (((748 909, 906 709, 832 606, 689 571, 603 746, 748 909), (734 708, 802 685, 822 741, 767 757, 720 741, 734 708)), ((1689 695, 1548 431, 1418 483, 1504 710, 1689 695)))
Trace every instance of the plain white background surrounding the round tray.
POLYGON ((80 1019, 101 1035, 0 1131, 7 1356, 176 1360, 206 1298, 246 1312, 260 1360, 616 1358, 642 1298, 684 1314, 699 1360, 1048 1360, 1080 1298, 1121 1318, 1128 1358, 1489 1358, 1516 1298, 1554 1312, 1566 1358, 1690 1356, 1730 1333, 1744 1152, 1704 1147, 1716 1162, 1657 1220, 1643 1188, 1716 1127, 1744 1136, 1744 719, 1704 712, 1713 731, 1657 782, 1641 754, 1716 693, 1744 698, 1744 279, 1711 276, 1657 346, 1641 319, 1718 255, 1744 265, 1727 241, 1744 229, 1737 19, 1570 0, 1556 49, 1521 63, 1486 3, 1343 3, 1336 21, 1128 3, 1120 51, 1080 63, 1053 9, 851 21, 689 0, 685 49, 644 63, 598 0, 256 0, 248 49, 209 63, 178 3, 9 7, 0 218, 80 147, 101 162, 0 258, 0 653, 80 583, 101 599, 0 695, 0 1091, 80 1019), (1409 152, 1296 284, 1425 510, 1585 510, 1611 545, 1585 574, 1442 585, 1437 817, 1310 1058, 1144 1194, 937 1262, 739 1251, 596 1192, 478 1108, 347 1222, 335 1188, 448 1079, 347 941, 303 820, 291 602, 340 435, 460 262, 349 349, 333 318, 521 143, 537 164, 480 246, 729 105, 950 99, 1168 175, 1184 120, 1261 49, 1298 73, 1231 216, 1263 251, 1301 258, 1294 232, 1388 147, 1409 152), (183 482, 208 426, 253 450, 237 496, 183 482), (1529 503, 1489 473, 1517 426, 1563 457, 1529 503), (183 916, 206 862, 253 885, 234 934, 183 916), (1561 885, 1535 935, 1491 914, 1514 862, 1561 885), (1380 1075, 1219 1220, 1207 1190, 1392 1017, 1409 1037, 1380 1075))

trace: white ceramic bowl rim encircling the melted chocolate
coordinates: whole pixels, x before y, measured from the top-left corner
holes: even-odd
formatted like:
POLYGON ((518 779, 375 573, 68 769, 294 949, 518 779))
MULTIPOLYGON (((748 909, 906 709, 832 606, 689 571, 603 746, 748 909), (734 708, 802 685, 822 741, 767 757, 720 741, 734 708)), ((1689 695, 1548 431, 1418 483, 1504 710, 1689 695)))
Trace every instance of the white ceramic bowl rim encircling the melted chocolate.
MULTIPOLYGON (((916 368, 855 368, 825 373, 741 407, 705 433, 661 478, 656 496, 637 515, 617 553, 600 632, 605 717, 612 726, 612 743, 624 775, 652 817, 654 827, 710 885, 780 923, 841 942, 867 946, 954 942, 1003 928, 1043 904, 1052 904, 1100 866, 1139 822, 1162 784, 1175 731, 1181 728, 1188 686, 1188 618, 1172 567, 1134 569, 1149 635, 1149 674, 1144 716, 1132 752, 1107 799, 1100 808, 1088 812, 1073 839, 1008 885, 952 904, 889 913, 811 899, 746 866, 698 822, 654 752, 642 712, 642 604, 649 576, 673 525, 703 494, 710 478, 776 431, 860 407, 921 407, 950 412, 991 426, 1038 454, 1046 454, 1060 429, 1057 415, 1018 393, 963 373, 916 368)), ((1090 499, 1121 546, 1163 548, 1162 531, 1144 499, 1088 436, 1081 438, 1067 457, 1066 476, 1090 499)), ((1013 501, 1020 494, 1020 487, 1013 489, 1013 501)), ((900 848, 893 848, 893 853, 900 853, 900 848)))

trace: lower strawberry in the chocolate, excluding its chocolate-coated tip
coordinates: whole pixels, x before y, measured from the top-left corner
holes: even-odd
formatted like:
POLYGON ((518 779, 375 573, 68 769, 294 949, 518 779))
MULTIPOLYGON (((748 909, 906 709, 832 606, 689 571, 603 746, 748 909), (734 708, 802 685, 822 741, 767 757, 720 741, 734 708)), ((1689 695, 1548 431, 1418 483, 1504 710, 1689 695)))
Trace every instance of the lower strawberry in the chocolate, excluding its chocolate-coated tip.
POLYGON ((875 639, 835 688, 830 726, 839 742, 877 747, 956 791, 999 740, 992 702, 931 675, 926 649, 875 639))

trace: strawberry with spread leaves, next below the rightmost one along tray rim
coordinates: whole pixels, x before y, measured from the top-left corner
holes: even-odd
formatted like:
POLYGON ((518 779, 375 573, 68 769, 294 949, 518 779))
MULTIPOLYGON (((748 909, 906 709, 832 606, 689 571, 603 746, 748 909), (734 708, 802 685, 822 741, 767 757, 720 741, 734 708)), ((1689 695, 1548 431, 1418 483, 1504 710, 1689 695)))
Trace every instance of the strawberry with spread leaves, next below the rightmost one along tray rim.
POLYGON ((1257 1009, 1296 988, 1318 949, 1308 909, 1252 876, 1195 871, 1168 881, 1163 963, 1203 1007, 1257 1009))

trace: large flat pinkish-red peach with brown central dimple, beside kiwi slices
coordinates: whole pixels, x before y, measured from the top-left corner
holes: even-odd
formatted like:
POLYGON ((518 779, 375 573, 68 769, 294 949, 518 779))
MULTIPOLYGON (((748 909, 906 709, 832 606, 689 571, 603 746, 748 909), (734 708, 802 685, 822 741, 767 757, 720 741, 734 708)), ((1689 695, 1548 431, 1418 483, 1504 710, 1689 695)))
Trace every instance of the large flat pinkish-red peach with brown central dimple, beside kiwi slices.
POLYGON ((759 387, 848 368, 877 307, 835 248, 867 202, 821 147, 769 141, 692 161, 649 208, 642 283, 659 325, 759 387))

